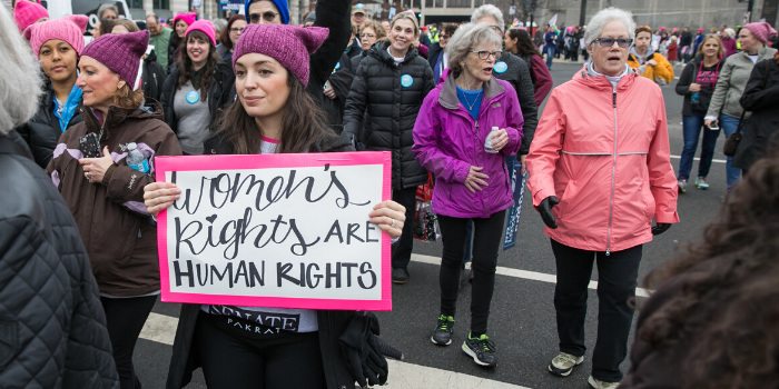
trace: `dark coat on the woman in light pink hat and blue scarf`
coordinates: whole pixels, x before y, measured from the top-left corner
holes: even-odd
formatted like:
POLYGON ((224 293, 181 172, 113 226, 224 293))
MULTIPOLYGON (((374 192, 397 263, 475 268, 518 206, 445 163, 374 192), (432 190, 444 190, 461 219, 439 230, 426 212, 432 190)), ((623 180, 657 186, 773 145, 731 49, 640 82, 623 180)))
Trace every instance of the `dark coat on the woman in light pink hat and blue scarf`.
MULTIPOLYGON (((47 83, 43 89, 43 94, 40 97, 40 106, 38 112, 24 124, 21 124, 17 131, 24 139, 24 142, 30 147, 32 157, 39 167, 46 169, 53 157, 55 148, 59 137, 65 132, 59 126, 59 119, 55 116, 55 91, 51 84, 47 83)), ((68 123, 68 128, 83 121, 78 109, 68 123)))

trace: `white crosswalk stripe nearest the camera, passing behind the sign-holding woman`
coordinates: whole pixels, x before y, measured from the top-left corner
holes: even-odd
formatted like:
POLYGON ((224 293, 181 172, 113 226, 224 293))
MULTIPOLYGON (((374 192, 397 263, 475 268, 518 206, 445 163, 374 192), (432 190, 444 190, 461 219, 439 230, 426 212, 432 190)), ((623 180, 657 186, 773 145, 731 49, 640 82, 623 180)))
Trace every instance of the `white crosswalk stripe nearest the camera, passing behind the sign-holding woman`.
MULTIPOLYGON (((172 346, 176 336, 178 319, 151 312, 146 319, 140 338, 158 343, 172 346)), ((456 347, 456 346, 455 346, 456 347)), ((511 385, 461 372, 447 371, 426 366, 420 366, 396 360, 387 360, 389 363, 389 379, 382 388, 387 389, 531 389, 519 385, 511 385)))

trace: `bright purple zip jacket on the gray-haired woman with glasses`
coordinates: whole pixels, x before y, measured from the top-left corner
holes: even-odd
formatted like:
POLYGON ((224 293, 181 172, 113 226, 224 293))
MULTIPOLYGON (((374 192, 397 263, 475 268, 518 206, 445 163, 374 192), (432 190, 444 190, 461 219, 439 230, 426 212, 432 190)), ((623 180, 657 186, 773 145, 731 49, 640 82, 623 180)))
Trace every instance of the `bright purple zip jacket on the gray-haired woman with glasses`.
POLYGON ((433 89, 422 103, 414 124, 414 157, 435 174, 433 212, 453 218, 489 218, 512 205, 511 182, 504 156, 513 156, 522 143, 522 111, 511 83, 493 77, 484 83, 479 120, 457 100, 450 70, 444 82, 433 89), (509 144, 500 153, 484 151, 484 140, 492 127, 504 128, 509 144), (465 178, 472 166, 483 167, 490 178, 487 187, 471 193, 465 178))

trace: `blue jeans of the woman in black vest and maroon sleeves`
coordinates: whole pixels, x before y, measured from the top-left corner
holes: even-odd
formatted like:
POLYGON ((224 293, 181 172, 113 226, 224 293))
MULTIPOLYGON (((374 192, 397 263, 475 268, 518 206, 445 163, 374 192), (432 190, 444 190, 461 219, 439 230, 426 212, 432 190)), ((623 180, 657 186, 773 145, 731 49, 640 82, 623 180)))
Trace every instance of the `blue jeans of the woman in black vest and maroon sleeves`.
MULTIPOLYGON (((679 179, 690 179, 690 170, 692 170, 692 159, 698 150, 698 139, 703 128, 703 111, 692 111, 692 116, 682 116, 683 133, 684 133, 684 150, 682 151, 681 161, 679 161, 679 179)), ((719 130, 703 130, 703 144, 701 146, 701 161, 698 163, 698 177, 709 176, 711 160, 714 158, 714 147, 717 146, 717 137, 719 130)))

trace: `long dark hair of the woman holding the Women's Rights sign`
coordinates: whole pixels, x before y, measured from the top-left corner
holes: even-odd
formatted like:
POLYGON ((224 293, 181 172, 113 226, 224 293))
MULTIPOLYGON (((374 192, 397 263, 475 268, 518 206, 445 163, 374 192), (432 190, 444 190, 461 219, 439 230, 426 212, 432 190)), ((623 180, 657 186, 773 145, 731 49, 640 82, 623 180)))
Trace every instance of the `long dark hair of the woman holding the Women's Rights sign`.
MULTIPOLYGON (((287 71, 289 97, 284 104, 282 117, 282 139, 276 153, 298 153, 312 151, 319 140, 335 137, 325 127, 325 112, 306 92, 306 88, 287 71)), ((221 112, 215 122, 217 132, 221 132, 229 141, 234 154, 256 154, 259 152, 263 129, 258 128, 240 99, 221 112)))

